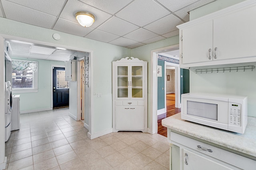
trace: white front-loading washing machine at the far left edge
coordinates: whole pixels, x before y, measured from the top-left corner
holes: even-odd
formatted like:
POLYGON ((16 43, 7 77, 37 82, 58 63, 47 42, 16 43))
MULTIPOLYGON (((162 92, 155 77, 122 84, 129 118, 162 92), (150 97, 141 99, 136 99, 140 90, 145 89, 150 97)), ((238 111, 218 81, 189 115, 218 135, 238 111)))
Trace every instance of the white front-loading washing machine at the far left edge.
POLYGON ((5 82, 5 141, 8 141, 11 135, 12 120, 12 85, 11 82, 5 82))

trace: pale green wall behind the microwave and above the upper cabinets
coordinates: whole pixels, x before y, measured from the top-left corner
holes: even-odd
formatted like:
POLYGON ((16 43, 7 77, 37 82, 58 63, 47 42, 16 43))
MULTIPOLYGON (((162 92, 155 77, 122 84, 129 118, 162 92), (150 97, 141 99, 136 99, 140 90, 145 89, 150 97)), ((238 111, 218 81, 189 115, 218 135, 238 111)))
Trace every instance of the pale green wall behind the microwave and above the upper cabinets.
MULTIPOLYGON (((190 18, 198 18, 243 0, 217 0, 190 12, 190 18)), ((250 65, 250 64, 249 64, 250 65)), ((190 71, 190 92, 208 92, 248 96, 248 115, 256 117, 256 69, 196 74, 190 71)))

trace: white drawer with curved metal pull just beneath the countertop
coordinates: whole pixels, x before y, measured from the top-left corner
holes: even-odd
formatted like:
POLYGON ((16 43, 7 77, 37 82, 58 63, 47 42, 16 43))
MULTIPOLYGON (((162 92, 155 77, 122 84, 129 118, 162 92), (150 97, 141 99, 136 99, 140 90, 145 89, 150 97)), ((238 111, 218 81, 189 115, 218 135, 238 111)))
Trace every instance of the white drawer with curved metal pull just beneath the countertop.
POLYGON ((246 158, 228 150, 220 149, 174 132, 170 132, 170 140, 172 144, 177 145, 178 147, 186 147, 195 150, 244 170, 250 170, 252 167, 256 167, 256 160, 246 158))

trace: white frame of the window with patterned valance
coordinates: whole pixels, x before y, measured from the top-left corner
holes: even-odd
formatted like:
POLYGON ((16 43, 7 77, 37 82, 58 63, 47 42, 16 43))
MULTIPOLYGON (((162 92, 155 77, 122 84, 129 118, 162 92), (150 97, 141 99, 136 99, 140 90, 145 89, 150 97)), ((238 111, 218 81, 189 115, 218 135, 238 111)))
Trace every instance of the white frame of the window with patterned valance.
MULTIPOLYGON (((19 60, 19 59, 13 59, 13 61, 30 62, 30 60, 19 60)), ((38 66, 38 61, 31 61, 31 62, 37 63, 37 66, 38 66)), ((12 76, 12 80, 13 80, 13 76, 12 76)), ((33 71, 33 84, 34 84, 34 88, 12 88, 12 92, 13 93, 35 93, 35 92, 38 92, 38 67, 37 67, 36 71, 33 71)))

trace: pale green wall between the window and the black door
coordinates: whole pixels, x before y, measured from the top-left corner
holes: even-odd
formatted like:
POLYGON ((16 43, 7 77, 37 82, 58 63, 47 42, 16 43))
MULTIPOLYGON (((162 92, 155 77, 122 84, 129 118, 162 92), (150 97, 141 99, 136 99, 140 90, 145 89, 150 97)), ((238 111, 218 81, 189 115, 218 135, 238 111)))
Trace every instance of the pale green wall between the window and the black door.
MULTIPOLYGON (((20 111, 51 108, 51 64, 65 66, 61 61, 15 58, 20 60, 38 61, 38 92, 20 94, 20 111)), ((16 94, 16 93, 14 93, 16 94)))

